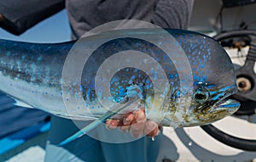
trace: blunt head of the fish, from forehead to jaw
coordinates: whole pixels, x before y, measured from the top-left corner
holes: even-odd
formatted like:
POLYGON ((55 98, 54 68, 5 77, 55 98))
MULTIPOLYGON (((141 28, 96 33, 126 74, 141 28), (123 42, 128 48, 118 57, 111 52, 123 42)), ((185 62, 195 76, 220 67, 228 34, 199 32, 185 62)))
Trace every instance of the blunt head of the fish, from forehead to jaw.
POLYGON ((160 124, 202 126, 235 113, 240 103, 228 97, 237 92, 236 71, 224 48, 211 37, 193 32, 176 38, 189 60, 193 86, 187 91, 186 87, 171 89, 160 124))

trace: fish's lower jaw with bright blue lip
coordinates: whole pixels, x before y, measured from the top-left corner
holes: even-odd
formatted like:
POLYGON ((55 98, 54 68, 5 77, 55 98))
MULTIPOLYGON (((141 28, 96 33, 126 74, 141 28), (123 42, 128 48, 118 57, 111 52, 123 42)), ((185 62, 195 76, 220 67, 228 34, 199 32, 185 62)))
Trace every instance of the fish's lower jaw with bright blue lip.
POLYGON ((230 115, 232 115, 236 112, 236 110, 239 109, 240 105, 241 104, 234 99, 224 98, 224 99, 218 101, 218 103, 215 103, 212 106, 212 109, 210 110, 210 112, 225 110, 230 115))

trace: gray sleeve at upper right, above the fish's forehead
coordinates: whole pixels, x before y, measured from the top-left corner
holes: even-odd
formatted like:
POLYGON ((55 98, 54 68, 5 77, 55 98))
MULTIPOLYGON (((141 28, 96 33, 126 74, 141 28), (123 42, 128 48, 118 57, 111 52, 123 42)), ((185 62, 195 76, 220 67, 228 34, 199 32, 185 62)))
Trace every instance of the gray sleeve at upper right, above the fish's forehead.
POLYGON ((162 28, 187 29, 194 0, 159 0, 151 22, 162 28))

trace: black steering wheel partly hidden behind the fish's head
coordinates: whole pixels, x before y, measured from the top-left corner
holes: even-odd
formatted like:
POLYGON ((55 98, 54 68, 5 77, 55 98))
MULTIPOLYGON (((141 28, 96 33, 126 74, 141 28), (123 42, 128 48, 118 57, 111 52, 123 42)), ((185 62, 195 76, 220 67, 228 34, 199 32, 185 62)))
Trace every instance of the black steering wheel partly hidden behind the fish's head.
MULTIPOLYGON (((238 92, 230 98, 234 98, 241 103, 241 107, 235 115, 256 114, 256 74, 253 70, 256 62, 256 31, 226 31, 213 38, 223 47, 236 48, 237 58, 244 57, 246 59, 242 66, 235 64, 238 92), (242 53, 244 47, 249 47, 247 56, 242 53)), ((223 142, 230 147, 256 151, 256 140, 231 136, 212 125, 201 126, 201 128, 219 142, 223 142)))

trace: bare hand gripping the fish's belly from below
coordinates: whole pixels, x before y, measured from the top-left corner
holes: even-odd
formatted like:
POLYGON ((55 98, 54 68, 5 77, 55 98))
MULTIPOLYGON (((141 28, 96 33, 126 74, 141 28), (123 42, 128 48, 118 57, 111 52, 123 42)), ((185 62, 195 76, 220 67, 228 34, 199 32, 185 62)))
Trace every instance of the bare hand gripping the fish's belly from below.
POLYGON ((160 133, 160 126, 146 118, 145 109, 143 108, 136 112, 125 114, 119 120, 107 120, 106 127, 110 130, 119 127, 120 131, 130 131, 132 137, 142 137, 143 135, 155 137, 160 133))

